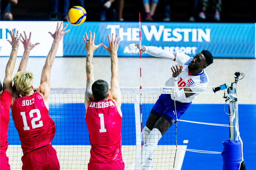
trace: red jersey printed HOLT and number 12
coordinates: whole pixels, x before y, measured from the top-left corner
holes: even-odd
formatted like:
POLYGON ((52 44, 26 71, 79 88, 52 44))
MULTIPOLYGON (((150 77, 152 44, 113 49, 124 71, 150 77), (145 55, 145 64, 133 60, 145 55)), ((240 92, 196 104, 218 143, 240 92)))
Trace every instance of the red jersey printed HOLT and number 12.
POLYGON ((13 104, 12 119, 23 153, 50 144, 55 135, 55 124, 39 93, 17 98, 13 104))

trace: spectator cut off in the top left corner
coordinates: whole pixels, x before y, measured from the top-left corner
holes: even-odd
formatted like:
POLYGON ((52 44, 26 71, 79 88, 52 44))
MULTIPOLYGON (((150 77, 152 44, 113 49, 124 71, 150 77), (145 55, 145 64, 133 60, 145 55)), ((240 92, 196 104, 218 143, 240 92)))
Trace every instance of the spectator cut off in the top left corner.
POLYGON ((1 17, 0 20, 12 21, 11 3, 16 5, 18 0, 0 0, 1 17))

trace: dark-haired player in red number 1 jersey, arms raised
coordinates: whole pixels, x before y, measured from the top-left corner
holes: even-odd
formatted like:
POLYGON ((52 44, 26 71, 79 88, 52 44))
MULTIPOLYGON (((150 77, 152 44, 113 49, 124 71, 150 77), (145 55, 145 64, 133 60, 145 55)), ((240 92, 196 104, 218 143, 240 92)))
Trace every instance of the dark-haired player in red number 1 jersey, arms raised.
POLYGON ((90 37, 84 39, 86 49, 86 92, 85 92, 85 121, 89 131, 90 162, 88 170, 124 170, 122 161, 121 141, 121 91, 118 80, 117 50, 120 41, 117 35, 112 40, 108 35, 109 47, 103 44, 94 45, 95 33, 90 31, 90 37), (94 82, 93 51, 103 46, 111 58, 111 94, 108 95, 108 83, 105 80, 94 82))

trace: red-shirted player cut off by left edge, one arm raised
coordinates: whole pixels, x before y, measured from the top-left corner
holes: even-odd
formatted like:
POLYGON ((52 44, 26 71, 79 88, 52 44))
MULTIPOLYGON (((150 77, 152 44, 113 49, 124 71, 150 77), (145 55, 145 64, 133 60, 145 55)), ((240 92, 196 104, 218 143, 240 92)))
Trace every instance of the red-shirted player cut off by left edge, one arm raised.
POLYGON ((12 104, 12 73, 17 59, 17 52, 20 45, 20 36, 15 37, 15 31, 10 31, 12 41, 7 40, 12 45, 12 52, 6 65, 5 77, 3 79, 3 87, 0 81, 0 165, 1 170, 10 170, 9 158, 6 156, 8 148, 7 132, 10 120, 10 107, 12 104), (3 90, 3 92, 2 92, 3 90))

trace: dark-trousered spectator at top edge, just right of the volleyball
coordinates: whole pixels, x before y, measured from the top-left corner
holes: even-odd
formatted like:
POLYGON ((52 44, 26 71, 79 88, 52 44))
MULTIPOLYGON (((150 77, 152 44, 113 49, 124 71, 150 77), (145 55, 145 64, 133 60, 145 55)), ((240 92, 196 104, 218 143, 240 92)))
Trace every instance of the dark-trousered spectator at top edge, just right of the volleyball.
POLYGON ((107 15, 106 15, 107 10, 111 8, 111 5, 114 1, 116 1, 116 9, 113 9, 112 11, 113 14, 112 14, 111 20, 116 20, 116 11, 117 11, 117 20, 124 21, 124 19, 122 18, 122 13, 123 13, 125 0, 108 0, 107 2, 105 0, 98 0, 100 21, 107 20, 107 15))

